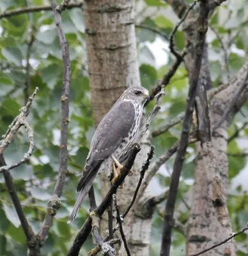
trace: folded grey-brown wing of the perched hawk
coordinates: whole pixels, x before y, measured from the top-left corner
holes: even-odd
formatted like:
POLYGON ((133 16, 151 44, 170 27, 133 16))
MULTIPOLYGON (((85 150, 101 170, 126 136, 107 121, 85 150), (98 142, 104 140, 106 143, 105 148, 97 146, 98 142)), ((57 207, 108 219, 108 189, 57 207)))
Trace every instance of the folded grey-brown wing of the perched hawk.
POLYGON ((89 179, 95 179, 100 164, 109 158, 119 147, 123 138, 127 137, 134 124, 134 116, 135 110, 132 102, 123 100, 118 100, 104 116, 91 141, 77 191, 81 191, 88 184, 89 179))

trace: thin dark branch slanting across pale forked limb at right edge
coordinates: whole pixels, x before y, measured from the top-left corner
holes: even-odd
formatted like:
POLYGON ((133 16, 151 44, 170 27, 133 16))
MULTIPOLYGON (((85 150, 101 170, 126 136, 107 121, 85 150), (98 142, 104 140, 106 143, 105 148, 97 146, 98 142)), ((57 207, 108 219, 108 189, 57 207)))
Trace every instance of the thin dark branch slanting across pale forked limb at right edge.
POLYGON ((223 122, 228 117, 229 113, 233 110, 233 108, 235 107, 236 101, 238 100, 238 98, 240 97, 242 92, 245 90, 245 87, 247 86, 247 83, 248 83, 247 80, 248 80, 248 71, 247 71, 247 74, 245 76, 242 86, 240 86, 240 88, 236 91, 236 93, 233 97, 233 100, 231 100, 231 103, 224 111, 223 115, 221 116, 221 119, 217 122, 217 124, 215 124, 213 126, 212 132, 215 132, 223 124, 223 122))

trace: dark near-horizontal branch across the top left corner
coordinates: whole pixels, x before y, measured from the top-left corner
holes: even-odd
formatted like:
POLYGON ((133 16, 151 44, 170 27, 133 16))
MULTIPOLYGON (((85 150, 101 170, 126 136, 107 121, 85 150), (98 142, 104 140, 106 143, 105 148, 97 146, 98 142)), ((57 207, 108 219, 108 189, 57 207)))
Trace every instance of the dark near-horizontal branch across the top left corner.
MULTIPOLYGON (((80 8, 80 7, 82 7, 82 3, 66 5, 66 9, 68 10, 72 8, 80 8)), ((12 17, 14 15, 20 15, 22 13, 41 12, 41 11, 52 11, 52 7, 50 5, 39 5, 39 6, 32 6, 32 7, 25 7, 25 8, 17 8, 8 12, 1 13, 0 19, 12 17)))

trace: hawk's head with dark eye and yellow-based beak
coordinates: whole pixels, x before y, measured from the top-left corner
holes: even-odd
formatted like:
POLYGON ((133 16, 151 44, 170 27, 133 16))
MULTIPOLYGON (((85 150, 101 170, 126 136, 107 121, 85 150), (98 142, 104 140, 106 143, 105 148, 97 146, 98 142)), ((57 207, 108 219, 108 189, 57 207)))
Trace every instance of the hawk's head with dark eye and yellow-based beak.
POLYGON ((123 92, 121 98, 124 100, 134 101, 143 106, 144 103, 150 99, 148 90, 142 86, 132 86, 128 88, 125 90, 125 92, 123 92))

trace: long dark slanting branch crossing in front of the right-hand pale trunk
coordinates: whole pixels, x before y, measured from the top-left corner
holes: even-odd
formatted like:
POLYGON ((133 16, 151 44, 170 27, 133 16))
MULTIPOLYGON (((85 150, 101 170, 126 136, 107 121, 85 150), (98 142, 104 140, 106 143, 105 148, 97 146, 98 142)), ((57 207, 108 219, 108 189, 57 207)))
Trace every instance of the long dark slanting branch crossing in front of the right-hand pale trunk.
POLYGON ((208 3, 201 0, 198 29, 196 32, 196 47, 194 63, 192 67, 192 76, 190 77, 190 87, 187 97, 187 106, 185 118, 183 120, 183 129, 174 161, 173 173, 171 175, 171 184, 169 186, 169 194, 166 202, 164 214, 164 227, 162 233, 161 256, 168 256, 171 247, 171 230, 174 224, 174 206, 176 203, 176 194, 178 190, 179 179, 182 171, 183 159, 189 143, 190 126, 192 124, 192 112, 194 111, 196 90, 198 87, 198 79, 201 68, 201 60, 203 56, 203 48, 205 44, 206 31, 208 29, 208 3))

